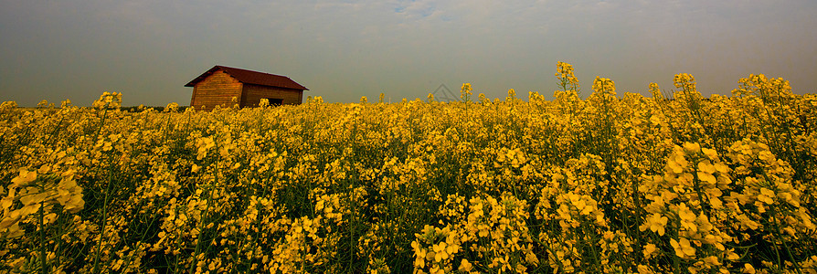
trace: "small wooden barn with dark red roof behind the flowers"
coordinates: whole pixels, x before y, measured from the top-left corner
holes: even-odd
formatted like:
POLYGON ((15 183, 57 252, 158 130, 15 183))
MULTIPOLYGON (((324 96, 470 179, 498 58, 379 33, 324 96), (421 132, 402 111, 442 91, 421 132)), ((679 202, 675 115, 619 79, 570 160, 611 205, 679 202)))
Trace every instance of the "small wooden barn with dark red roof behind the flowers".
POLYGON ((236 103, 242 108, 258 107, 261 99, 270 100, 271 105, 301 104, 303 90, 308 90, 286 76, 224 66, 210 68, 185 87, 193 87, 190 106, 196 111, 236 103))

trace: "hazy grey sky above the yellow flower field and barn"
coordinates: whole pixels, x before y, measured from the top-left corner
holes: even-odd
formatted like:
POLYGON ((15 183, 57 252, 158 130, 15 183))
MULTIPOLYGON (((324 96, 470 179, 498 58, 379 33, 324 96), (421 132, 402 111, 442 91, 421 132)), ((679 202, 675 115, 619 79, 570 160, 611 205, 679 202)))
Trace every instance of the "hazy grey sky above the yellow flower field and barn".
MULTIPOLYGON (((440 86, 552 98, 557 61, 649 95, 675 74, 705 96, 749 74, 817 93, 817 1, 0 0, 0 101, 188 105, 215 65, 285 75, 306 96, 425 100, 440 86)), ((441 91, 438 92, 438 98, 441 91)))

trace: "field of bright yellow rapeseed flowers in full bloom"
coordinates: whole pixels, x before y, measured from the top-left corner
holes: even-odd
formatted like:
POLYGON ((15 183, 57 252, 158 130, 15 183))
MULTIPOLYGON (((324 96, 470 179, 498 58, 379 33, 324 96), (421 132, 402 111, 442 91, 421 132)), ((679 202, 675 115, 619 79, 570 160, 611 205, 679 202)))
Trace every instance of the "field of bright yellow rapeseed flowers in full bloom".
MULTIPOLYGON (((0 272, 810 272, 817 97, 0 107, 0 272)), ((473 96, 473 98, 471 98, 473 96)))

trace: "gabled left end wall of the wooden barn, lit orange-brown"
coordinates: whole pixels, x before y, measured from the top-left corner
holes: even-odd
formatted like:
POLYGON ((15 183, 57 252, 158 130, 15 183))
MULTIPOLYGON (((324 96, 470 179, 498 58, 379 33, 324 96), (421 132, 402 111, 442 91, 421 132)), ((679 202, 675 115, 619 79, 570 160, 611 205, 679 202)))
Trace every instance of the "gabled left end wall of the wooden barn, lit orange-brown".
POLYGON ((242 86, 238 79, 218 69, 207 79, 196 83, 190 105, 196 107, 196 111, 212 111, 217 105, 230 107, 235 104, 233 97, 241 100, 242 86))

